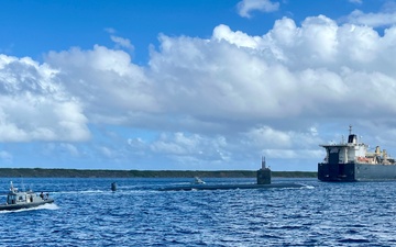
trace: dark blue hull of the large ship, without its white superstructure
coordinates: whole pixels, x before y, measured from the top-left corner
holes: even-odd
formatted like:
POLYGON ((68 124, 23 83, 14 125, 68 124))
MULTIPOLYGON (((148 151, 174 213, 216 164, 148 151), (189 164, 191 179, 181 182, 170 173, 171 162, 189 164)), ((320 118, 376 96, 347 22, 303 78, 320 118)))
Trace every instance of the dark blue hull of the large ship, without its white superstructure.
POLYGON ((396 165, 318 164, 318 179, 326 182, 396 180, 396 165))

